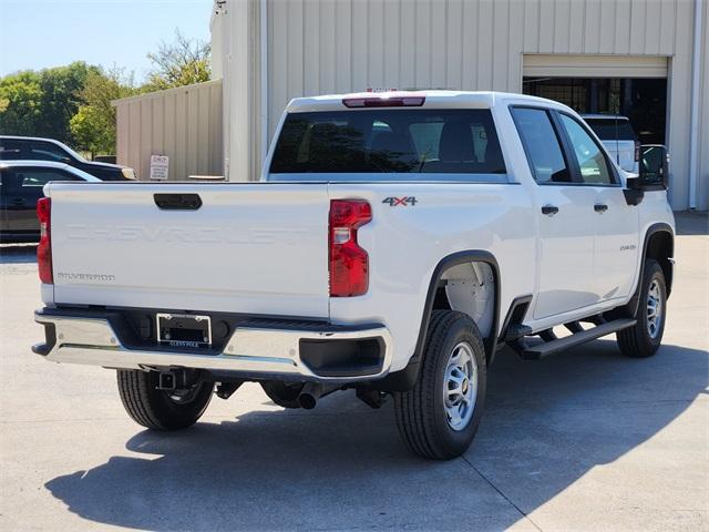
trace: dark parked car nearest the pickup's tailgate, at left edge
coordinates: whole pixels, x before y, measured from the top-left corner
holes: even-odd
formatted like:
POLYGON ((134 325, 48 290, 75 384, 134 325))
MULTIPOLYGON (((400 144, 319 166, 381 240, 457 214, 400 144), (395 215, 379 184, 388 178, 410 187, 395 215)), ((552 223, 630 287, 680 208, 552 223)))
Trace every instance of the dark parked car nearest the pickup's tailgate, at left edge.
POLYGON ((64 163, 0 161, 0 242, 39 242, 37 201, 50 181, 101 180, 64 163))

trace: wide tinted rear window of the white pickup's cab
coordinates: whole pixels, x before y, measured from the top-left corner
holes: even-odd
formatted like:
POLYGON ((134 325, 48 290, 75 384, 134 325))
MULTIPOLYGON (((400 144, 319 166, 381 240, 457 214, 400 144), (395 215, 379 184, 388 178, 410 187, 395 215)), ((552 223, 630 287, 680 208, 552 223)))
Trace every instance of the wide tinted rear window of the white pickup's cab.
POLYGON ((490 110, 376 109, 286 117, 269 181, 357 180, 351 174, 389 174, 382 181, 506 181, 490 110))

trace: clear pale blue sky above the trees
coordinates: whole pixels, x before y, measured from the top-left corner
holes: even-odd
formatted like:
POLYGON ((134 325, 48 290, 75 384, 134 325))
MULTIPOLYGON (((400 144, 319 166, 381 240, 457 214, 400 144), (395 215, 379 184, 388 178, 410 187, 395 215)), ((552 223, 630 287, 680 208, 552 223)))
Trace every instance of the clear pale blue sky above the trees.
POLYGON ((148 52, 185 37, 209 41, 213 0, 0 0, 0 76, 85 61, 135 81, 148 52))

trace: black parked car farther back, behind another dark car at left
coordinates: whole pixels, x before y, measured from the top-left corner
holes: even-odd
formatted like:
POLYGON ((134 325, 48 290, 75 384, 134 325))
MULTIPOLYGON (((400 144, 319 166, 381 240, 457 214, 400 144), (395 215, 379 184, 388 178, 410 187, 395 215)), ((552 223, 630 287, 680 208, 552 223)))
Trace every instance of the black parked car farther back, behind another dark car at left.
POLYGON ((54 161, 82 170, 101 181, 134 181, 135 171, 127 166, 86 161, 71 147, 51 139, 0 136, 0 161, 54 161))

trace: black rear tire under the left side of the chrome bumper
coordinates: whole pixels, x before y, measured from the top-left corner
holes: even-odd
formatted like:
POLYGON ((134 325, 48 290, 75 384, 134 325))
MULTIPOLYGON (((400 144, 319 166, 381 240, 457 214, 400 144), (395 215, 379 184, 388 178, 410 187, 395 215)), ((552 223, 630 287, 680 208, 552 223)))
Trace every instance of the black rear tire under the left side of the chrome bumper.
POLYGON ((179 430, 192 427, 212 399, 214 383, 199 382, 182 397, 157 390, 156 371, 117 370, 123 408, 133 420, 153 430, 179 430))

